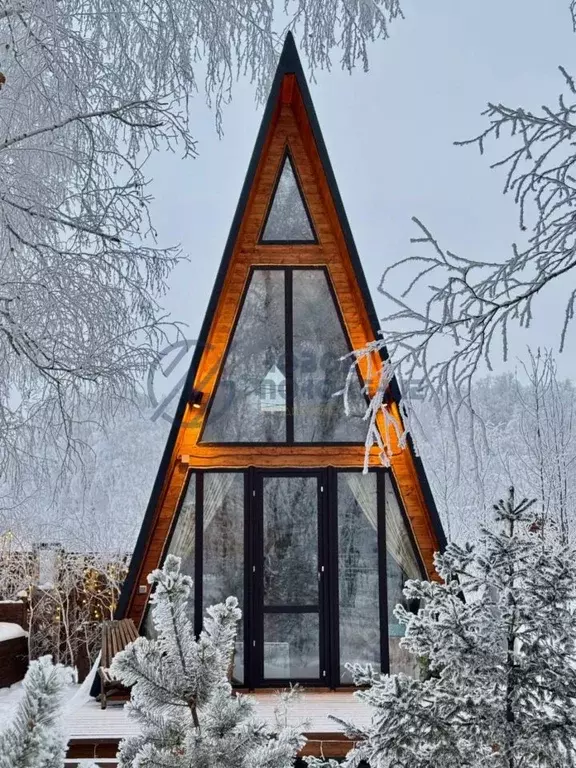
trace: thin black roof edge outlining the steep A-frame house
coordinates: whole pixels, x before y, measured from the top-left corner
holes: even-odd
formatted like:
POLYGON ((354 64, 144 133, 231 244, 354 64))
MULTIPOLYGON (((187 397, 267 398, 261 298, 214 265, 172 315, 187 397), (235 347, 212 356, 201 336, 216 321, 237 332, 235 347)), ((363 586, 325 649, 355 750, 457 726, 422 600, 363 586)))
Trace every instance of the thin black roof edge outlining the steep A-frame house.
MULTIPOLYGON (((238 201, 238 206, 236 208, 236 213, 234 214, 234 219, 232 220, 232 226, 230 227, 230 233, 228 234, 228 239, 226 241, 226 247, 224 248, 224 254, 222 256, 222 261, 220 262, 220 267, 218 269, 218 274, 216 276, 216 281, 214 283, 214 287, 212 289, 212 294, 210 296, 210 301, 208 303, 208 309, 206 311, 206 315, 204 317, 204 321, 202 323, 202 328, 200 331, 200 335, 198 338, 198 342, 196 344, 194 355, 192 357, 192 362, 190 364, 190 370, 188 371, 188 375, 186 377, 186 381, 184 383, 184 388, 182 390, 182 395, 180 397, 180 401, 178 404, 178 408, 176 410, 176 415, 174 417, 174 421, 172 423, 172 428, 170 429, 170 434, 168 436, 168 440, 166 442, 166 448, 164 449, 164 454, 162 456, 162 461, 160 462, 160 468, 158 469, 158 474, 156 476, 156 480, 154 482, 154 487, 152 489, 152 494, 150 496, 150 501, 148 503, 148 507, 146 509, 146 514, 144 516, 144 520, 142 523, 142 528, 140 530, 140 535, 138 536, 138 540, 136 542, 136 547, 134 549, 134 554, 132 556, 132 562, 130 565, 130 570, 128 572, 128 576, 126 578, 126 581, 124 582, 124 587, 122 589, 122 594, 120 596, 120 600, 118 602, 118 607, 116 610, 116 617, 122 618, 124 615, 124 612, 126 611, 128 600, 130 599, 130 595, 132 594, 132 590, 134 588, 134 581, 136 579, 137 573, 138 573, 138 564, 140 563, 140 560, 144 554, 144 551, 146 549, 146 542, 148 540, 149 531, 154 519, 154 512, 160 497, 160 494, 162 492, 162 486, 164 483, 164 476, 166 474, 166 471, 168 470, 169 464, 170 464, 170 458, 172 456, 172 452, 174 450, 174 446, 176 444, 176 440, 178 437, 178 431, 180 428, 180 424, 182 422, 182 419, 184 417, 184 412, 186 409, 186 404, 188 402, 188 397, 190 392, 192 391, 192 387, 194 385, 194 380, 196 377, 196 371, 198 369, 198 366, 200 364, 200 360, 202 357, 202 353, 204 351, 204 346, 206 344, 208 333, 210 331, 210 325, 212 323, 212 317, 214 315, 214 312, 216 310, 216 305, 218 302, 218 298, 220 296, 222 284, 224 282, 224 278, 228 269, 228 265, 230 263, 230 260, 232 258, 232 254, 234 251, 234 245, 236 243, 239 231, 240 231, 240 225, 242 223, 242 219, 244 216, 244 212, 246 210, 246 205, 248 202, 248 196, 250 194, 250 190, 252 188, 254 178, 256 175, 256 169, 258 166, 258 161, 260 159, 262 149, 264 146, 264 142, 266 140, 266 135, 268 133, 268 128, 272 119, 272 115, 274 113, 274 109, 276 107, 276 104, 278 102, 278 98, 280 95, 280 87, 282 84, 282 80, 284 78, 284 75, 295 75, 296 81, 298 83, 298 87, 300 89, 300 93, 302 95, 302 100, 304 102, 304 106, 306 108, 306 112, 308 114, 308 119, 310 121, 310 125, 312 128, 312 132, 314 135, 314 139, 316 142, 316 147, 318 149, 318 153, 320 155, 320 160, 322 162, 322 166, 324 168, 324 172, 326 174, 326 179, 330 188, 330 193, 332 195, 332 199, 334 201, 334 205, 336 208, 336 212, 338 215, 338 218, 340 220, 340 225, 342 227, 342 231, 344 233, 344 238, 346 240, 346 246, 348 249, 348 253, 350 255, 350 259, 352 261, 352 265, 354 267, 354 271, 356 274, 356 279, 358 281, 360 290, 362 292, 362 296, 364 299, 364 303, 366 306, 366 310, 368 312, 370 323, 372 326, 372 330, 374 333, 374 338, 377 338, 380 332, 380 324, 378 322, 378 316, 376 314, 376 310, 374 308, 374 304, 372 302, 372 298, 370 296, 370 291, 368 288, 368 284, 366 282, 366 277, 364 275, 364 270, 362 269, 362 264, 360 263, 360 258, 358 256, 358 251, 356 250, 356 245, 354 243, 354 238, 352 237, 352 231, 350 229, 350 225, 348 223, 348 218, 346 216, 346 212, 344 210, 344 206, 342 204, 342 199, 340 197, 340 192, 338 191, 338 186, 336 184, 336 179, 334 177, 334 172, 332 170, 332 165, 330 164, 330 159, 328 157, 328 152, 326 150, 326 145, 324 143, 324 139, 322 137, 322 133, 320 131, 320 125, 318 123, 318 118, 316 117, 316 111, 314 109, 314 105, 312 103, 312 98, 310 96, 310 91, 308 89, 308 84, 306 82, 306 77, 304 75, 304 71, 302 69, 302 64, 300 62, 300 57, 298 56, 298 51, 296 50, 296 43, 294 42, 294 37, 291 32, 288 32, 286 36, 286 40, 284 42, 284 48, 282 50, 282 54, 280 56, 280 60, 278 62, 278 67, 276 69, 276 74, 274 75, 274 80, 272 82, 272 88, 270 90, 270 95, 268 96, 268 101, 266 103, 266 108, 264 110, 264 116, 262 118, 262 123, 260 125, 260 129, 258 131, 258 136, 256 139, 256 144, 254 145, 254 150, 252 152, 252 157, 250 159, 250 164, 248 165, 248 170, 246 172, 246 178, 244 179, 244 184, 242 186, 242 192, 240 194, 240 199, 238 201)), ((382 356, 383 358, 386 358, 387 352, 385 349, 382 350, 382 356)), ((396 379, 393 379, 393 381, 390 384, 390 390, 392 397, 399 402, 401 398, 400 388, 398 386, 398 383, 396 379)), ((430 490, 430 485, 428 483, 428 479, 426 477, 426 473, 424 471, 424 467, 422 465, 421 460, 418 456, 415 455, 414 452, 414 446, 412 443, 412 440, 410 436, 408 437, 408 445, 409 450, 412 452, 412 455, 414 457, 414 463, 416 466, 416 470, 418 472, 418 478, 422 487, 422 492, 424 494, 426 504, 428 506, 430 518, 432 525, 434 527, 434 532, 437 537, 438 543, 441 547, 441 549, 444 548, 446 544, 446 538, 444 535, 444 531, 442 529, 442 524, 440 522, 440 517, 438 515, 438 511, 436 509, 436 505, 434 503, 434 498, 432 496, 432 492, 430 490)))

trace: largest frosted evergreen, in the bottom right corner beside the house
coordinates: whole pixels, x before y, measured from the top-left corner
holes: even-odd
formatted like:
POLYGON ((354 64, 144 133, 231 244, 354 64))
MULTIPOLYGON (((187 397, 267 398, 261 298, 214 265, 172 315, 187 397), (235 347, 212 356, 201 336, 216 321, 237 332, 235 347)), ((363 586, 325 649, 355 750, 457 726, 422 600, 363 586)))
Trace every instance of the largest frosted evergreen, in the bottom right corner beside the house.
POLYGON ((374 709, 348 765, 567 768, 576 765, 576 554, 534 531, 511 489, 500 530, 436 556, 437 582, 408 582, 402 644, 426 679, 354 670, 374 709), (530 530, 532 529, 532 530, 530 530))

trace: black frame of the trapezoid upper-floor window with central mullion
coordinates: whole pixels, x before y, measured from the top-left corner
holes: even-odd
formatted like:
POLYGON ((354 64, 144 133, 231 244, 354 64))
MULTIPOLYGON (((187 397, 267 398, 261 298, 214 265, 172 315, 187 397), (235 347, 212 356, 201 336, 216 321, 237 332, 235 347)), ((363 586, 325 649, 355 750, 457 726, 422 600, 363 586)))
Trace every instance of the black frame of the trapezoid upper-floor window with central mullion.
MULTIPOLYGON (((214 384, 214 389, 212 391, 212 396, 210 398, 210 402, 208 403, 208 406, 206 408, 206 415, 204 417, 204 423, 202 425, 202 430, 200 432, 200 436, 198 438, 198 442, 202 445, 206 446, 216 446, 216 445, 222 445, 230 448, 238 447, 238 448, 247 448, 250 446, 266 446, 270 448, 275 447, 281 447, 286 445, 295 445, 295 446, 302 446, 302 447, 319 447, 322 445, 329 445, 329 446, 358 446, 363 445, 363 442, 360 441, 354 441, 354 440, 334 440, 334 441, 328 441, 328 442, 300 442, 294 440, 294 303, 293 303, 293 281, 292 276, 295 271, 322 271, 326 277, 326 283, 328 285, 328 289, 330 291, 330 296, 332 298, 332 302, 334 304, 334 308, 336 310, 336 315, 338 318, 338 321, 340 323, 340 328, 342 329, 342 334, 344 336, 344 340, 346 341, 346 345, 348 347, 349 352, 353 352, 352 345, 350 343, 350 338, 348 336, 348 332, 346 330, 346 325, 344 323, 344 317, 342 315, 342 311, 340 310, 340 305, 338 304, 338 298, 336 295, 336 292, 334 290, 334 286, 332 285, 332 280, 330 279, 330 273, 328 271, 328 268, 325 266, 308 266, 308 265, 279 265, 279 264, 273 264, 273 265, 261 265, 258 264, 257 266, 252 266, 250 268, 250 272, 248 274, 248 279, 246 281, 246 286, 244 289, 244 293, 242 295, 242 298, 240 300, 240 306, 238 308, 238 313, 236 315, 234 325, 232 327, 232 330, 230 332, 230 336, 228 338, 228 343, 226 344, 226 349, 224 351, 224 355, 222 358, 222 363, 220 365, 220 370, 218 371, 218 376, 216 378, 216 382, 214 384), (220 386, 222 375, 224 373, 224 366, 226 365, 226 360, 228 359, 228 354, 230 352, 230 348, 232 346, 232 343, 234 341, 234 337, 236 334, 236 330, 238 328, 238 323, 240 321, 240 316, 242 314, 242 311, 244 309, 244 304, 246 302, 246 296, 248 295, 248 291, 250 289, 250 285, 252 283, 252 277, 256 271, 280 271, 284 273, 284 344, 285 344, 285 351, 284 351, 284 360, 285 360, 285 375, 286 375, 286 426, 285 426, 285 433, 286 433, 286 440, 283 441, 274 441, 274 442, 260 442, 260 441, 223 441, 223 440, 203 440, 204 432, 206 429, 206 425, 208 424, 208 420, 210 418, 210 413, 212 412, 212 407, 214 404, 214 400, 216 397, 216 393, 218 391, 218 388, 220 386)), ((358 377, 358 383, 360 385, 360 388, 364 387, 364 382, 362 381, 362 377, 360 376, 360 373, 358 369, 356 368, 356 375, 358 377)), ((368 406, 368 398, 366 394, 364 393, 364 398, 366 400, 366 406, 368 406)))

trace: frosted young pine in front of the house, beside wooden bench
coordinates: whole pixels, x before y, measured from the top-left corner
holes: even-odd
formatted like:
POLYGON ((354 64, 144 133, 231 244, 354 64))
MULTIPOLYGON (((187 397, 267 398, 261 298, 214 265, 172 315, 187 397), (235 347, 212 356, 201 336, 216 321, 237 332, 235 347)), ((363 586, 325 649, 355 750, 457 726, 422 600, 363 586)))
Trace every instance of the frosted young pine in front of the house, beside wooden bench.
POLYGON ((157 638, 140 637, 119 653, 112 675, 132 686, 127 707, 141 735, 125 739, 119 768, 292 768, 304 738, 281 720, 260 720, 253 700, 233 696, 228 680, 241 612, 236 598, 208 609, 194 636, 188 618, 192 581, 180 558, 148 577, 157 638))

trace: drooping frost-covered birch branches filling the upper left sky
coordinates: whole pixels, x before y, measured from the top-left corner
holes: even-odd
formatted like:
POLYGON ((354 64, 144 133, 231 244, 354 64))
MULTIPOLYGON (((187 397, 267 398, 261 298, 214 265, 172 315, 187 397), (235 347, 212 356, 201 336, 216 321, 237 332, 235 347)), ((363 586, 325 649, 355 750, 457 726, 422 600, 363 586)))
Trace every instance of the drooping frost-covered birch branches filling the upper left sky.
POLYGON ((203 90, 221 130, 238 76, 264 94, 283 25, 312 71, 335 51, 366 68, 400 15, 398 0, 0 0, 0 475, 54 446, 68 465, 78 420, 113 414, 155 359, 180 251, 156 242, 145 167, 194 156, 190 99, 203 90))

